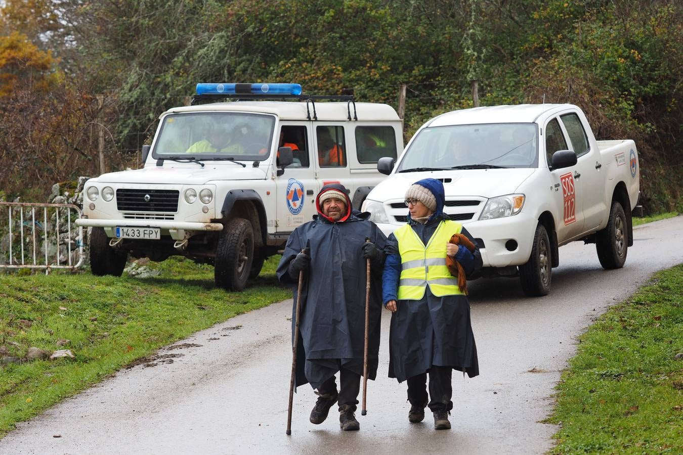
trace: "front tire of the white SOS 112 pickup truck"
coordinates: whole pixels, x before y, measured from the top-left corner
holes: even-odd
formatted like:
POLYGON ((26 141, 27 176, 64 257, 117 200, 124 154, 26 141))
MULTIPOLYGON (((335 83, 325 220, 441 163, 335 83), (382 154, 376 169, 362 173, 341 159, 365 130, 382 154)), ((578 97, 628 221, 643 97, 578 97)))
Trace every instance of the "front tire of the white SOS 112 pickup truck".
POLYGON ((518 267, 522 291, 526 295, 540 297, 550 292, 550 278, 553 274, 551 251, 548 231, 543 224, 538 223, 533 235, 533 248, 531 248, 529 261, 518 267))

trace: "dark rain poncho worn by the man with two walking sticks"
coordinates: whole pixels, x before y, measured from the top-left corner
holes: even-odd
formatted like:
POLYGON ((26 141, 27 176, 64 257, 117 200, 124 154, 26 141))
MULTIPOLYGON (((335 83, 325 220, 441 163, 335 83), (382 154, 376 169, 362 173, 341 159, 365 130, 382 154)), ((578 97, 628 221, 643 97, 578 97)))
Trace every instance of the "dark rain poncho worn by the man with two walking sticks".
MULTIPOLYGON (((346 195, 339 184, 326 185, 346 195)), ((320 194, 318 194, 320 196, 320 194)), ((303 248, 309 248, 311 265, 305 274, 302 292, 301 321, 296 359, 296 385, 311 383, 314 389, 335 375, 340 368, 362 375, 365 344, 365 284, 366 260, 362 247, 369 238, 378 250, 385 248, 387 238, 367 220, 370 214, 351 212, 346 220, 329 220, 320 213, 294 229, 277 267, 277 278, 292 285, 292 342, 296 317, 298 276, 290 276, 290 261, 303 248)), ((316 198, 316 205, 318 199, 316 198)), ((382 265, 384 255, 373 261, 370 278, 370 336, 368 348, 368 379, 375 379, 380 344, 380 314, 382 310, 382 265)))

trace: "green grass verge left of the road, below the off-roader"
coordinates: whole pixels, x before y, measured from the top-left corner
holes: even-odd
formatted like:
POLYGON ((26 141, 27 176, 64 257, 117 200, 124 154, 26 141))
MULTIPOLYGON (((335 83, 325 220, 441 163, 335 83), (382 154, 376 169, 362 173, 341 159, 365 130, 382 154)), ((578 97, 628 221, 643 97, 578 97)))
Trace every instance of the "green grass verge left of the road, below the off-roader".
MULTIPOLYGON (((0 367, 0 437, 136 359, 231 317, 291 296, 275 279, 279 256, 241 293, 216 289, 213 268, 183 259, 150 263, 154 278, 84 274, 0 276, 0 347, 70 349, 75 359, 0 367), (31 321, 29 328, 20 320, 31 321), (57 346, 57 340, 70 342, 57 346)), ((3 354, 0 354, 3 357, 3 354)))

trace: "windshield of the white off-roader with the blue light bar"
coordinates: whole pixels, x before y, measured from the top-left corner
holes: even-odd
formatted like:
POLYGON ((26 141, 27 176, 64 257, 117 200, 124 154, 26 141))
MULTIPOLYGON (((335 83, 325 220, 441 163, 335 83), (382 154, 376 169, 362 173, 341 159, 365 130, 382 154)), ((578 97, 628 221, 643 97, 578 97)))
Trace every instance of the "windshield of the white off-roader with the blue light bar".
POLYGON ((232 112, 167 115, 152 157, 263 161, 273 142, 272 115, 232 112))

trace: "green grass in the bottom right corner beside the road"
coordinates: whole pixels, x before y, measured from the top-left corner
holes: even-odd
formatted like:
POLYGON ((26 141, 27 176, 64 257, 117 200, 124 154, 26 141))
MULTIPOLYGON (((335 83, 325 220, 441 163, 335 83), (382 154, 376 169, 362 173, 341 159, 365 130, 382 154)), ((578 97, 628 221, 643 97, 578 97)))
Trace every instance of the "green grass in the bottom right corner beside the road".
POLYGON ((683 264, 580 337, 563 372, 554 454, 683 453, 683 264))

